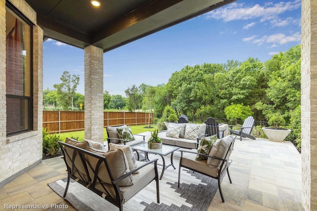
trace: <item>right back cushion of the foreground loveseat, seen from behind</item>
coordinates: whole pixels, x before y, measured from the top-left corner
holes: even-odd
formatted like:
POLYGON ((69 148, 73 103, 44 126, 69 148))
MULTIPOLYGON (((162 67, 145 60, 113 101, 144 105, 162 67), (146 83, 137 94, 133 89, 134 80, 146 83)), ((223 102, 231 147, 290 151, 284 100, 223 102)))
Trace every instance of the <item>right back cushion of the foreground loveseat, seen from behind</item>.
MULTIPOLYGON (((127 158, 126 158, 124 152, 120 149, 109 150, 107 152, 104 152, 101 150, 96 150, 96 149, 91 148, 91 147, 86 147, 86 150, 106 157, 106 160, 108 162, 108 165, 109 165, 109 168, 111 170, 111 173, 112 173, 114 180, 130 171, 127 158)), ((88 162, 90 163, 90 165, 93 168, 96 168, 96 165, 99 161, 99 158, 95 158, 93 156, 89 156, 86 154, 85 154, 85 156, 86 156, 86 159, 88 160, 88 162)), ((89 166, 89 165, 87 165, 87 166, 89 166)), ((89 167, 88 167, 88 170, 89 170, 90 177, 93 179, 95 176, 95 173, 89 167)), ((100 169, 98 172, 98 177, 101 179, 101 181, 103 183, 111 184, 111 179, 110 179, 109 173, 106 169, 106 165, 104 162, 100 166, 100 169)), ((122 179, 121 181, 119 181, 118 185, 130 186, 130 185, 133 185, 133 180, 134 180, 133 176, 129 175, 129 176, 125 177, 124 179, 122 179)))

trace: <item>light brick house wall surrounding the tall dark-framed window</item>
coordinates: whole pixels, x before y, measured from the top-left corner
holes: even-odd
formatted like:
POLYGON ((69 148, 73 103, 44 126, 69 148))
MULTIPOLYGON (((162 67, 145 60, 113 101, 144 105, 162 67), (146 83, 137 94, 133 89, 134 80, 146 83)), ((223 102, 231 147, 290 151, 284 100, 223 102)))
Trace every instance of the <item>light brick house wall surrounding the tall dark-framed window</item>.
MULTIPOLYGON (((36 24, 36 12, 23 0, 11 2, 36 24)), ((42 160, 43 30, 33 27, 34 130, 6 137, 5 0, 0 0, 0 187, 42 160)))

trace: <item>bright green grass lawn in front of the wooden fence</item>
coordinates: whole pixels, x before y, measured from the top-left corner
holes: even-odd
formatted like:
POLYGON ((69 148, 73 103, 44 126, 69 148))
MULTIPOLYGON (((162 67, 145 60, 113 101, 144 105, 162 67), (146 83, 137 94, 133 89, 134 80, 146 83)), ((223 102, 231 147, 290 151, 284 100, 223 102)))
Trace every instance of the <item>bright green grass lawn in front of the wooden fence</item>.
MULTIPOLYGON (((130 126, 132 133, 133 134, 138 134, 140 132, 146 132, 146 131, 154 131, 155 128, 157 128, 156 126, 151 125, 151 127, 154 128, 144 128, 147 127, 148 125, 141 125, 141 126, 130 126)), ((85 138, 85 131, 84 130, 80 130, 80 131, 73 131, 73 132, 64 132, 64 133, 60 133, 59 134, 60 137, 65 140, 65 138, 70 138, 70 137, 78 137, 79 141, 83 141, 83 139, 85 138)), ((104 141, 106 141, 107 138, 107 131, 106 128, 104 128, 104 141)))

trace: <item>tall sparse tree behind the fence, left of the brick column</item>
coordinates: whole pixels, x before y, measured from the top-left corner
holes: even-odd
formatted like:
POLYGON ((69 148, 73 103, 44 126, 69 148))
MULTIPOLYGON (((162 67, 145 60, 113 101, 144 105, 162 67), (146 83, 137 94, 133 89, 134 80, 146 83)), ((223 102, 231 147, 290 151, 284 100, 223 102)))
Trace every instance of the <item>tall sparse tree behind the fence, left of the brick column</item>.
POLYGON ((62 83, 53 85, 57 93, 57 102, 63 109, 68 109, 72 105, 72 97, 79 84, 79 75, 71 76, 68 71, 64 71, 60 80, 62 83))

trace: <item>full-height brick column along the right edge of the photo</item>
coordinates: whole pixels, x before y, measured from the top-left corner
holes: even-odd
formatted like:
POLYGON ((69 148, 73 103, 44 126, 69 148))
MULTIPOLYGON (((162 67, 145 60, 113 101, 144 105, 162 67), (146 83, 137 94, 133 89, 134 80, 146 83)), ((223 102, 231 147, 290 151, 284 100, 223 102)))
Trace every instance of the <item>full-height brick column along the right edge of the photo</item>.
POLYGON ((302 202, 317 210, 317 0, 302 0, 302 202))

